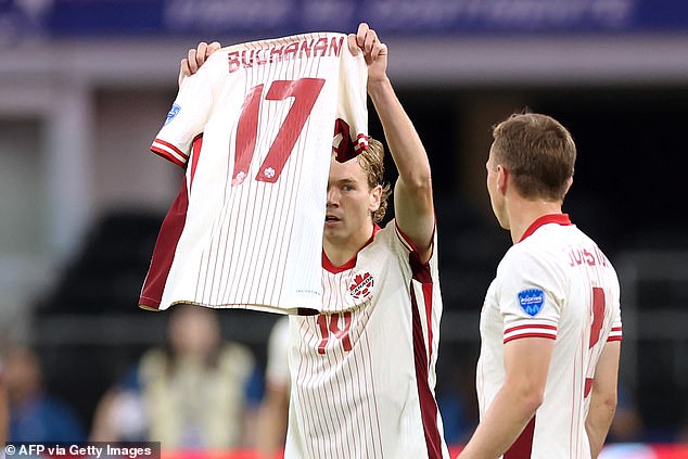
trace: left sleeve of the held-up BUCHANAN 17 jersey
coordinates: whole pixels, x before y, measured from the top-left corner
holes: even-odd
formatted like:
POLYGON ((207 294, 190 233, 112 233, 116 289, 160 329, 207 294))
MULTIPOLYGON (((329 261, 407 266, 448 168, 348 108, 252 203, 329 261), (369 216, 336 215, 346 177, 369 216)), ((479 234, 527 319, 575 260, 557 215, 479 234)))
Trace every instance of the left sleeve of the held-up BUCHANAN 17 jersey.
POLYGON ((191 144, 203 132, 213 106, 213 73, 217 72, 213 58, 216 54, 196 74, 183 80, 165 124, 151 145, 153 153, 180 167, 186 166, 191 144))

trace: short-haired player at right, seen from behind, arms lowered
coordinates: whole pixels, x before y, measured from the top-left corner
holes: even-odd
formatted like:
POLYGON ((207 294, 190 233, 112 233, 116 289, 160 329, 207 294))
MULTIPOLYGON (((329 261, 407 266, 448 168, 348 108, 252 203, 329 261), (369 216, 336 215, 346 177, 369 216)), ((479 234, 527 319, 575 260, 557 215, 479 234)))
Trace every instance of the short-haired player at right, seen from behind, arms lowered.
POLYGON ((616 405, 619 280, 562 203, 576 148, 549 116, 494 128, 487 190, 513 246, 481 313, 481 422, 461 459, 597 457, 616 405))

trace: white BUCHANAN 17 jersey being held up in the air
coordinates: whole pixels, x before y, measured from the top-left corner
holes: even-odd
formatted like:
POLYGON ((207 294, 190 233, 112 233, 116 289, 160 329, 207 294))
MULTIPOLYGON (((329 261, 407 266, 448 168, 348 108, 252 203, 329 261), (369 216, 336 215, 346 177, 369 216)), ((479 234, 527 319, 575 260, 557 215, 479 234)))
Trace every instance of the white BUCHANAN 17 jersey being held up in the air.
POLYGON ((187 168, 139 304, 319 310, 331 154, 367 144, 346 36, 222 48, 184 79, 151 150, 187 168))

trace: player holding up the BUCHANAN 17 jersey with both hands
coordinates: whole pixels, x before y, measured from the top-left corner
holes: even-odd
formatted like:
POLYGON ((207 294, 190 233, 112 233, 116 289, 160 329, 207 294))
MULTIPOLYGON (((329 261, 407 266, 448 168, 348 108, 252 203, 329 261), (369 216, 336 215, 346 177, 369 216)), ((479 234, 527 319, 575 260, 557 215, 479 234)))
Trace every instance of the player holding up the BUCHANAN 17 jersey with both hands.
MULTIPOLYGON (((331 163, 323 234, 323 310, 290 316, 285 458, 448 458, 434 395, 442 301, 432 181, 421 140, 387 78, 387 47, 360 24, 368 94, 399 177, 395 219, 382 144, 331 163), (347 305, 343 307, 343 305, 347 305)), ((202 65, 199 48, 181 76, 202 65)))

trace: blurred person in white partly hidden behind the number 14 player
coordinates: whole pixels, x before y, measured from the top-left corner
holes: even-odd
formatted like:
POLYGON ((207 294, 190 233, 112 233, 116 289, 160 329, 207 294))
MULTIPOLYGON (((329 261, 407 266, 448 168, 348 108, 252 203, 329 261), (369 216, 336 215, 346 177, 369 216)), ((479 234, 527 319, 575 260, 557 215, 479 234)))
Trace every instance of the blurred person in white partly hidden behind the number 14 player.
POLYGON ((272 327, 268 342, 265 397, 260 404, 257 446, 260 459, 279 458, 284 449, 289 419, 289 318, 272 327))

